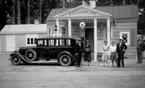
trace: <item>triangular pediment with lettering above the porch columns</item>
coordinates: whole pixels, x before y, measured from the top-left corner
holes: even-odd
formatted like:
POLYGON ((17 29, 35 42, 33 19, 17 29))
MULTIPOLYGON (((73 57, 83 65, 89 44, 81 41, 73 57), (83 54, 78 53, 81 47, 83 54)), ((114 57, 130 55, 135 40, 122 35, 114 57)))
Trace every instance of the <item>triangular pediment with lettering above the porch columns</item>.
POLYGON ((71 17, 108 17, 112 16, 109 13, 90 8, 88 6, 78 6, 63 13, 57 14, 54 18, 71 18, 71 17))

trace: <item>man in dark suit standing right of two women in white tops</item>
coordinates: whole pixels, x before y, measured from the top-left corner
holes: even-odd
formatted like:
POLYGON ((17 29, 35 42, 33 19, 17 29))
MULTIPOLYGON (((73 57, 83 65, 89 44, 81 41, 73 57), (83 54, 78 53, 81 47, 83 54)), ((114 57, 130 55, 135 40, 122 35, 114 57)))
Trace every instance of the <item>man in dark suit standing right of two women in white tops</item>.
POLYGON ((125 43, 123 43, 122 39, 119 39, 119 43, 117 44, 117 49, 116 52, 118 54, 118 59, 117 59, 117 66, 120 67, 120 61, 122 63, 122 67, 124 67, 124 53, 127 49, 127 46, 125 43))

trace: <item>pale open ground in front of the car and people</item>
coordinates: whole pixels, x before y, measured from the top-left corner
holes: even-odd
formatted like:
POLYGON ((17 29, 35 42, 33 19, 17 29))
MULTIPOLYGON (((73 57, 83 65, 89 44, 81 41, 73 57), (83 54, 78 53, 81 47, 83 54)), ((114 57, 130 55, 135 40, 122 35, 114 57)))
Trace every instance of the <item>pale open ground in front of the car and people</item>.
POLYGON ((12 66, 8 53, 0 55, 0 88, 145 88, 145 62, 125 60, 125 68, 92 63, 76 68, 56 63, 12 66))

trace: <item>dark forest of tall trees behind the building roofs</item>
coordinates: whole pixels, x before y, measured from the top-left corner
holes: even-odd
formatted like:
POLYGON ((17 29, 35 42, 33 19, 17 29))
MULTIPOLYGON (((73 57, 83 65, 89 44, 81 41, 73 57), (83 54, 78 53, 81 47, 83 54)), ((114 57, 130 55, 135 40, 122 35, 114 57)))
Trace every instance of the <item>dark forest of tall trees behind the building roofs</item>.
MULTIPOLYGON (((90 0, 84 1, 89 4, 90 0)), ((96 6, 124 4, 124 0, 96 1, 96 6)), ((19 19, 22 24, 28 23, 28 19, 30 19, 30 23, 32 24, 34 23, 35 19, 39 19, 40 23, 45 23, 46 17, 48 16, 51 9, 73 8, 81 4, 82 0, 0 0, 0 27, 2 28, 5 24, 17 24, 19 19), (18 8, 18 1, 20 1, 20 8, 18 8), (20 12, 18 9, 20 9, 20 12), (30 14, 28 14, 28 11, 30 14), (20 13, 19 15, 18 12, 20 13)), ((137 0, 125 0, 125 4, 137 4, 137 0)), ((140 4, 139 6, 142 7, 145 5, 140 4)))

